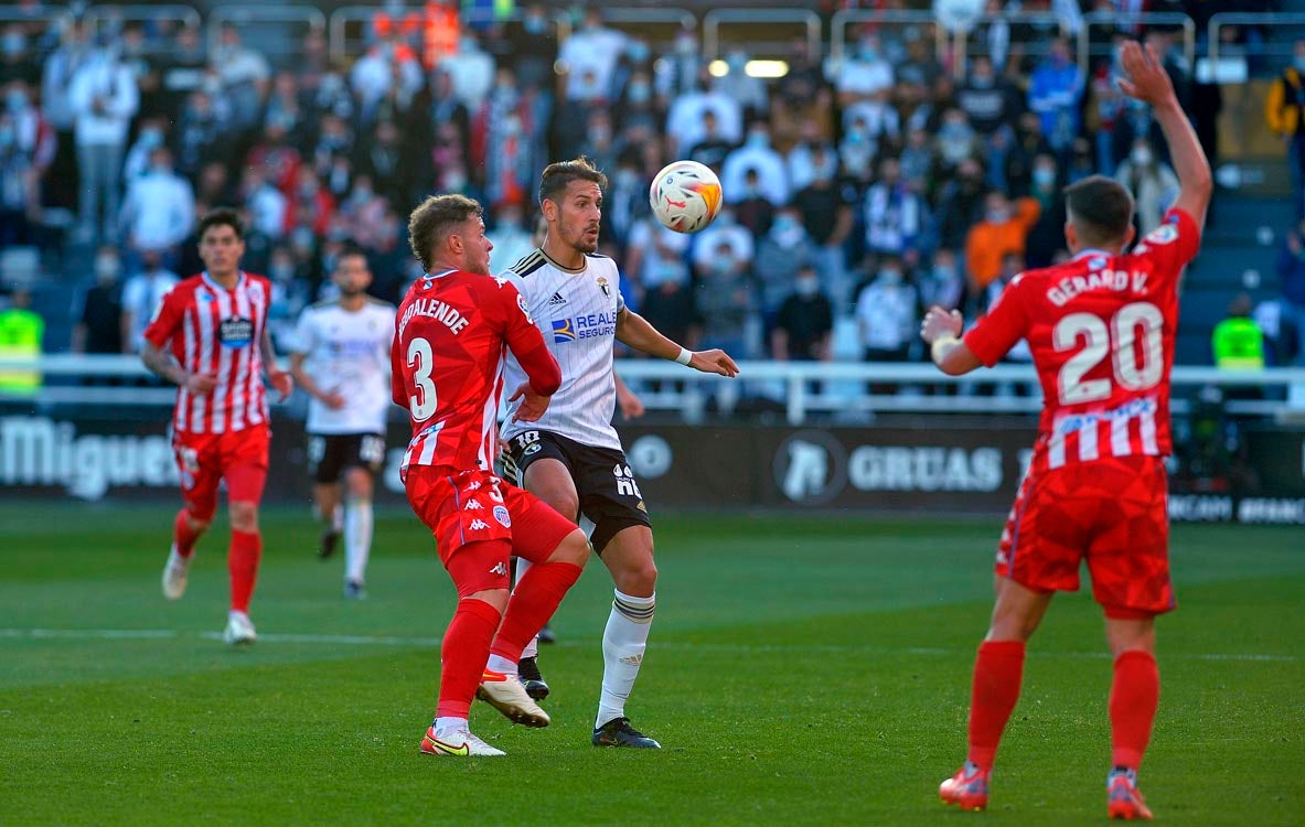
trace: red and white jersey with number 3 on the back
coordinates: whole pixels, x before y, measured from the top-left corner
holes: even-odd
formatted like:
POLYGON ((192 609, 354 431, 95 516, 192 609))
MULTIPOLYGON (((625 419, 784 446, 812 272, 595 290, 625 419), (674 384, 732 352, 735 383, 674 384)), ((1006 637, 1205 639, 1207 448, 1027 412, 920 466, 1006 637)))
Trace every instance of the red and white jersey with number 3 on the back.
POLYGON ((412 423, 401 472, 408 466, 493 468, 509 350, 535 393, 557 390, 561 368, 510 282, 445 270, 412 283, 390 348, 390 397, 412 423))

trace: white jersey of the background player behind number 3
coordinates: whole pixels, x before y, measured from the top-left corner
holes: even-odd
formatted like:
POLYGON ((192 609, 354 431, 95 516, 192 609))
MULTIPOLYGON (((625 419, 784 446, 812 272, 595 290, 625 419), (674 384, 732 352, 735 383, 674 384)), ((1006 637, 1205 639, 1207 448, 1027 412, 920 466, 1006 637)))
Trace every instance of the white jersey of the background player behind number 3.
POLYGON ((318 301, 299 316, 295 352, 304 370, 325 393, 339 393, 338 411, 313 399, 308 433, 385 433, 390 407, 390 342, 394 305, 368 299, 363 309, 346 310, 338 300, 318 301))

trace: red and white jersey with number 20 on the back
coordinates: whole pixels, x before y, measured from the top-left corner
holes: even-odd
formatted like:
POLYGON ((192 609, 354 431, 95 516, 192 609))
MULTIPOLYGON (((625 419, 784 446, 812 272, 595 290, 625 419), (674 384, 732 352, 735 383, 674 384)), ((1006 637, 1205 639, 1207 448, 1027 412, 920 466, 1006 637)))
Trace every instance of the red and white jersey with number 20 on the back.
POLYGON ((1083 250, 1018 275, 966 344, 992 367, 1027 339, 1043 386, 1031 470, 1104 457, 1165 457, 1178 274, 1201 245, 1169 210, 1130 253, 1083 250))

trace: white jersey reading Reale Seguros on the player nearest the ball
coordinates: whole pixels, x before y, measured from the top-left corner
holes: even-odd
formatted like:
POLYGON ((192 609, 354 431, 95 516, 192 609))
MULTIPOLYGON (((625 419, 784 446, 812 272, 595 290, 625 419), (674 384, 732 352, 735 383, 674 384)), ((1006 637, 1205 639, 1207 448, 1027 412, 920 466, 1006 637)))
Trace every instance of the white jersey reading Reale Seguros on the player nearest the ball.
MULTIPOLYGON (((625 308, 621 277, 607 256, 586 256, 585 266, 568 270, 536 249, 501 278, 510 279, 544 334, 549 352, 562 369, 562 386, 536 423, 504 423, 504 438, 522 430, 547 430, 592 447, 621 450, 612 428, 616 381, 612 347, 616 314, 625 308)), ((510 394, 526 374, 509 353, 505 390, 510 394)))

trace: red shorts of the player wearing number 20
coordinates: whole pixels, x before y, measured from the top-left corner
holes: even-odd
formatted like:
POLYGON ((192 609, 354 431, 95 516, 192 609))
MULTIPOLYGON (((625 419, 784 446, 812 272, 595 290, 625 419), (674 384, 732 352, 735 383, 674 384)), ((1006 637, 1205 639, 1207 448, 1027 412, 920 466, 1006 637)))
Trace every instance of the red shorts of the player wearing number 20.
POLYGON ((1034 591, 1078 591, 1086 557, 1107 617, 1173 609, 1167 488, 1159 457, 1030 472, 1001 534, 997 574, 1034 591))

